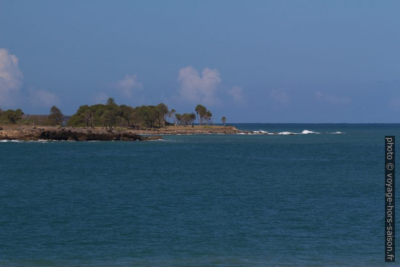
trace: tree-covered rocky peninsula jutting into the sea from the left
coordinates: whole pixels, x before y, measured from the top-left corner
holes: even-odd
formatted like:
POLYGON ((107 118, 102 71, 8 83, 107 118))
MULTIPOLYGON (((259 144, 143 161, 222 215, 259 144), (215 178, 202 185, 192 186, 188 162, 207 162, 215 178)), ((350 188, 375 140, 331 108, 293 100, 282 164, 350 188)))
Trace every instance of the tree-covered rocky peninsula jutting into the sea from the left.
POLYGON ((212 113, 197 105, 195 113, 178 114, 164 103, 135 108, 117 105, 113 98, 106 104, 83 105, 72 116, 64 116, 52 106, 49 115, 26 115, 22 110, 0 109, 0 140, 155 140, 159 135, 237 134, 233 126, 213 123, 212 113), (199 125, 194 125, 198 120, 199 125), (145 135, 145 136, 144 136, 145 135))

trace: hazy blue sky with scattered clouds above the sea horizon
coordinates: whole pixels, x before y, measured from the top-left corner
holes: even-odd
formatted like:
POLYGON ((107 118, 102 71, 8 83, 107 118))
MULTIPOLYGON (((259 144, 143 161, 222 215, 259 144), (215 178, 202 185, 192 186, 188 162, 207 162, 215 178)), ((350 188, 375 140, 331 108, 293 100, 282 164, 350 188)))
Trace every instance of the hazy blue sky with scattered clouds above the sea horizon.
POLYGON ((216 123, 398 123, 398 1, 0 0, 0 108, 114 97, 216 123))

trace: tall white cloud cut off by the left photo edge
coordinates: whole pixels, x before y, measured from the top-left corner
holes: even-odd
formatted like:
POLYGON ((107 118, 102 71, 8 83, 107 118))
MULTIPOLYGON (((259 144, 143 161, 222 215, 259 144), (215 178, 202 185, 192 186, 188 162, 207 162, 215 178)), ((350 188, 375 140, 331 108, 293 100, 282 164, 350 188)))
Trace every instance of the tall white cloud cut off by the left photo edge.
POLYGON ((0 48, 0 104, 12 106, 19 98, 23 75, 18 67, 18 58, 0 48))

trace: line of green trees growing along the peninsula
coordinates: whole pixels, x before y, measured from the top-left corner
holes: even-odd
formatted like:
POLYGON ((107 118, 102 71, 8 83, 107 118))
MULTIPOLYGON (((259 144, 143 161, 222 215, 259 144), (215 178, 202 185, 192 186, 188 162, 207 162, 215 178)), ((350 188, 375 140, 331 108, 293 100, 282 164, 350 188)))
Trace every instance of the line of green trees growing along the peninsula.
MULTIPOLYGON (((109 97, 105 104, 82 105, 71 117, 64 116, 61 111, 52 106, 50 114, 24 115, 22 110, 2 111, 0 109, 0 124, 28 125, 61 125, 72 127, 105 127, 116 126, 127 128, 155 128, 167 125, 192 125, 198 119, 199 124, 212 125, 212 113, 203 105, 198 104, 195 113, 176 113, 169 110, 164 103, 158 105, 141 105, 135 108, 129 105, 117 105, 114 98, 109 97)), ((225 124, 225 117, 222 120, 225 124)))

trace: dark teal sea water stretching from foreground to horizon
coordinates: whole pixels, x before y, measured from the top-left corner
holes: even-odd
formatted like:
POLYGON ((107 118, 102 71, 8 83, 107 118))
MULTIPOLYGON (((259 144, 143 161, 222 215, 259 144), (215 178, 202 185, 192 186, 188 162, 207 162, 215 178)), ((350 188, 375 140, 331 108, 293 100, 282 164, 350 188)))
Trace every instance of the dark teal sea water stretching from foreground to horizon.
POLYGON ((0 142, 0 266, 385 264, 400 125, 236 126, 320 134, 0 142))

